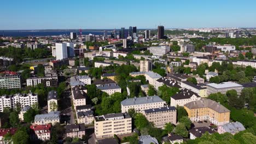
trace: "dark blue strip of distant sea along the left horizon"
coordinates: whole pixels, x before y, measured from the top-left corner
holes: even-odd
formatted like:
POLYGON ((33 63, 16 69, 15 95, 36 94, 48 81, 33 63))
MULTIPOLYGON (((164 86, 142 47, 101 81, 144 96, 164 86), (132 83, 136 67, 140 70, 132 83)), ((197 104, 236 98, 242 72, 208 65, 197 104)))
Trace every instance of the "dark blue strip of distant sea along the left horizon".
MULTIPOLYGON (((103 31, 82 31, 83 35, 87 34, 95 34, 95 35, 103 35, 103 31)), ((110 30, 106 30, 108 35, 110 35, 110 30)), ((77 32, 79 35, 79 31, 0 31, 0 36, 4 37, 38 37, 38 36, 53 36, 53 35, 70 35, 70 32, 77 32)))

